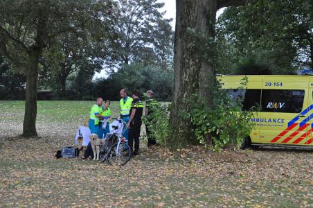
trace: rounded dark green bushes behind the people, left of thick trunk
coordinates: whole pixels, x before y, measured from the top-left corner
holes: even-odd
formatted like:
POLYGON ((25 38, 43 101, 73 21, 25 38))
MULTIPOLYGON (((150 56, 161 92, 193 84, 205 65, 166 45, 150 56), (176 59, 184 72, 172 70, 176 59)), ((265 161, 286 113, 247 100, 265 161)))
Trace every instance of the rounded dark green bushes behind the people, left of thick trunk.
POLYGON ((152 65, 145 67, 143 64, 125 64, 122 69, 108 78, 98 80, 95 94, 118 101, 122 88, 129 92, 137 89, 141 93, 151 89, 157 100, 170 101, 173 76, 172 69, 161 69, 152 65))

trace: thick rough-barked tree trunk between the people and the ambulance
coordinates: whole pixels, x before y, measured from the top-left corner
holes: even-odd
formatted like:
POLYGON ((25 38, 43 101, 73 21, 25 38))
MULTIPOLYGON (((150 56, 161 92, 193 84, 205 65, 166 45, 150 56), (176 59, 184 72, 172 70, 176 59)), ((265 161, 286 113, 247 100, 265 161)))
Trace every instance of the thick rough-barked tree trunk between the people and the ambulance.
MULTIPOLYGON (((242 4, 243 0, 177 0, 174 58, 174 90, 170 123, 173 149, 187 144, 198 144, 193 135, 193 126, 188 116, 193 101, 192 94, 199 94, 211 107, 215 85, 213 43, 215 17, 218 8, 242 4), (194 33, 195 36, 190 35, 194 33), (205 41, 205 42, 203 42, 205 41), (211 43, 210 43, 211 42, 211 43)), ((210 135, 207 135, 210 139, 210 135)))

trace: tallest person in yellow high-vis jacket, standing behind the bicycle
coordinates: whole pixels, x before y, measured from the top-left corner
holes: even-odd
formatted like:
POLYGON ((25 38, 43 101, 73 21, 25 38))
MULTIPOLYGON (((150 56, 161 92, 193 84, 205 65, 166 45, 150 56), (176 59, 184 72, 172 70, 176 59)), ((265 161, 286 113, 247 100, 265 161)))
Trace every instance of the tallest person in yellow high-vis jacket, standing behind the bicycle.
MULTIPOLYGON (((126 89, 120 89, 120 118, 128 123, 133 99, 127 96, 126 89)), ((128 130, 123 132, 123 137, 128 140, 128 130)))

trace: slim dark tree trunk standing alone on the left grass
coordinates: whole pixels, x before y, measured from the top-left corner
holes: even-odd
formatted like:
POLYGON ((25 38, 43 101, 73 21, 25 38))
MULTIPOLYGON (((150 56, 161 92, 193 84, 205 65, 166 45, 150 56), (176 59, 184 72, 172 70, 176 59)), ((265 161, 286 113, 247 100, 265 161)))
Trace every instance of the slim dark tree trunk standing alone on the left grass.
POLYGON ((23 137, 37 136, 37 76, 41 51, 33 49, 29 53, 29 64, 26 69, 26 101, 23 125, 23 137))

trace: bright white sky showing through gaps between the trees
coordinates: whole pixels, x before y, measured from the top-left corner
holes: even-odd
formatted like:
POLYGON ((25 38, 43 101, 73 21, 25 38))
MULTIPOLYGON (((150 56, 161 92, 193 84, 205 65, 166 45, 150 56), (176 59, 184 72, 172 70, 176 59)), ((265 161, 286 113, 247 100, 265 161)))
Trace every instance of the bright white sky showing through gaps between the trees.
MULTIPOLYGON (((173 19, 171 26, 172 26, 172 30, 175 31, 176 0, 158 0, 157 2, 165 3, 163 8, 161 8, 161 12, 166 11, 166 14, 164 15, 166 19, 170 19, 170 18, 173 19)), ((223 11, 224 11, 224 8, 217 10, 217 14, 216 14, 217 17, 219 17, 223 11)), ((93 76, 93 79, 102 78, 102 77, 106 77, 105 70, 102 70, 100 73, 96 72, 95 75, 93 76)))

